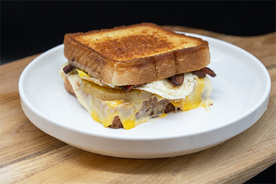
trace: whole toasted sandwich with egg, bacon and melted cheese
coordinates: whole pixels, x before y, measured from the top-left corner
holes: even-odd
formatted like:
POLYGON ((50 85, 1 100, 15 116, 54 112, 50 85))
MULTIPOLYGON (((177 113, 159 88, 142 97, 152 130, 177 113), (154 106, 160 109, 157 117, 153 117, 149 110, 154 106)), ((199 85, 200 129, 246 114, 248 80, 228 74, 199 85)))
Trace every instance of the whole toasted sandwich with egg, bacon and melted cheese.
POLYGON ((106 128, 213 105, 206 40, 141 23, 68 33, 63 43, 66 91, 106 128))

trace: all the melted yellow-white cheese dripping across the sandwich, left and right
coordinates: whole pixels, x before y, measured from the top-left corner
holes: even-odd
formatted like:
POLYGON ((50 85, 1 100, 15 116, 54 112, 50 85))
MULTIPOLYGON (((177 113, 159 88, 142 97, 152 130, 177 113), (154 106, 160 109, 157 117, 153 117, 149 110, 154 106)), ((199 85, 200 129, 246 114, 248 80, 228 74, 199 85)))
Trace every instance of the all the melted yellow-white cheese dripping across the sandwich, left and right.
MULTIPOLYGON (((63 74, 64 75, 64 74, 63 74)), ((83 75, 82 77, 84 77, 83 75)), ((100 100, 87 93, 84 93, 80 88, 82 82, 79 73, 71 73, 66 75, 73 90, 77 96, 77 100, 84 106, 84 108, 91 114, 94 121, 102 123, 105 127, 112 125, 112 121, 115 116, 119 116, 123 128, 134 128, 139 123, 149 121, 153 116, 143 116, 137 119, 135 114, 142 108, 143 100, 137 102, 124 102, 123 100, 100 100)), ((210 105, 213 104, 213 100, 209 98, 212 87, 210 79, 205 77, 204 79, 197 77, 193 90, 185 98, 169 100, 175 107, 180 108, 183 111, 194 109, 197 107, 205 107, 210 110, 210 105)), ((158 101, 164 100, 164 98, 156 95, 158 101)), ((148 100, 148 99, 144 99, 148 100)), ((166 114, 159 113, 154 116, 164 117, 166 114)))

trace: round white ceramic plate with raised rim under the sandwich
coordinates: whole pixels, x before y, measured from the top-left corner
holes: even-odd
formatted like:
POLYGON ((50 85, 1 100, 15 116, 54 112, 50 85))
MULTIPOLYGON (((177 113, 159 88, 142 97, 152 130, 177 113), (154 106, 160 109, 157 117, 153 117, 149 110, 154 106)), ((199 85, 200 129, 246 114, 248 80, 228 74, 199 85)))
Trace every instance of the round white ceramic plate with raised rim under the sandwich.
POLYGON ((210 43, 213 84, 211 112, 169 113, 131 130, 104 128, 69 95, 59 69, 67 60, 63 45, 34 59, 19 82, 21 105, 40 130, 86 151, 121 158, 164 158, 210 148, 250 128, 266 111, 270 76, 263 64, 235 45, 197 36, 210 43))

